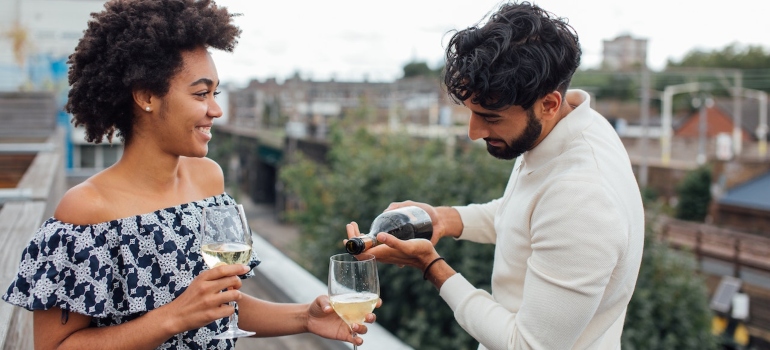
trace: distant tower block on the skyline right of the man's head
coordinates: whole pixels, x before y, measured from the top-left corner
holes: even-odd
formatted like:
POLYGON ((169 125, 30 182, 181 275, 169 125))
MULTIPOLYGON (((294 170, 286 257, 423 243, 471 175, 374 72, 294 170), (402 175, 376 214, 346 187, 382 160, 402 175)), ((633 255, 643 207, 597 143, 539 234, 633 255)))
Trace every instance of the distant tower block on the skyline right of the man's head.
POLYGON ((647 65, 647 39, 621 35, 604 40, 602 68, 609 70, 639 69, 647 65))

